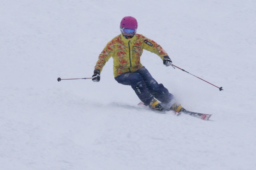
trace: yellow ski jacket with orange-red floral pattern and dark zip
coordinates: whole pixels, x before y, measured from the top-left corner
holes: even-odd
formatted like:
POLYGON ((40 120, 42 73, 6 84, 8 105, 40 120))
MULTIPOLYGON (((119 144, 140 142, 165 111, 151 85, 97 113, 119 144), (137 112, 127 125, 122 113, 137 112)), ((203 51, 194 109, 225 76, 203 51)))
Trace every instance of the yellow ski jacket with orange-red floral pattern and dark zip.
POLYGON ((157 54, 162 60, 163 56, 168 55, 155 41, 141 34, 135 34, 131 39, 126 39, 120 34, 107 43, 94 68, 101 72, 106 62, 113 57, 114 77, 126 72, 136 72, 143 67, 140 63, 143 49, 157 54))

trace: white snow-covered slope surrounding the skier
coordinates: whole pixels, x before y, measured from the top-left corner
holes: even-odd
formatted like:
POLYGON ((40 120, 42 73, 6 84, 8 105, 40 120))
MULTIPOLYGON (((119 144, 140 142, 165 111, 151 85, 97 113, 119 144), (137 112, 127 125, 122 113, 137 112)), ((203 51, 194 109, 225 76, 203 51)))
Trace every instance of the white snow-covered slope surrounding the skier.
POLYGON ((255 0, 1 0, 1 170, 255 170, 255 0), (137 106, 110 59, 91 77, 124 16, 179 69, 141 61, 184 108, 137 106))

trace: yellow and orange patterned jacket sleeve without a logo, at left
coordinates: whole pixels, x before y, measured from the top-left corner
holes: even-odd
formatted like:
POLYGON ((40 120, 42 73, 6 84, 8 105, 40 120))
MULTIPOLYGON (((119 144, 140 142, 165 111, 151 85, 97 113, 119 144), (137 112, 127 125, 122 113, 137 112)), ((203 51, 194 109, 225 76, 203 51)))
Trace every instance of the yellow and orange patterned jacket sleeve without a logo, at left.
POLYGON ((106 62, 110 59, 110 57, 113 56, 113 53, 114 53, 114 46, 112 41, 110 41, 107 43, 106 47, 100 53, 99 60, 96 62, 94 69, 99 70, 101 73, 102 68, 105 66, 106 62))

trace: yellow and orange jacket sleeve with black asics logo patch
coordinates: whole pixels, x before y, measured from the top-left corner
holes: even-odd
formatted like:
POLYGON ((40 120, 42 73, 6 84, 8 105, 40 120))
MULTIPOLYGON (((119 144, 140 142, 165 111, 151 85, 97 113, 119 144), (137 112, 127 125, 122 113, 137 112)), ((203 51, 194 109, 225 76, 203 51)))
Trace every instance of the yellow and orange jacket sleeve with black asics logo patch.
POLYGON ((146 49, 150 51, 151 53, 155 53, 156 55, 160 56, 161 59, 163 60, 163 56, 168 55, 166 51, 155 41, 150 40, 146 38, 145 36, 142 36, 142 44, 143 44, 143 49, 146 49))

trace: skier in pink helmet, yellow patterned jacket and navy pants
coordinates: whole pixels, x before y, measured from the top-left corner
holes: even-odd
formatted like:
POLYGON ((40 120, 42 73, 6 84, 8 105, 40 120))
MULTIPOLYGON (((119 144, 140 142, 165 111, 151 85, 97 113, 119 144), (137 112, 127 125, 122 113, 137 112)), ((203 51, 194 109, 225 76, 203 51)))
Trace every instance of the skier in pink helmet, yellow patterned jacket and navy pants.
POLYGON ((170 57, 155 41, 136 34, 137 28, 137 20, 132 16, 125 16, 121 20, 121 34, 108 42, 100 53, 92 80, 100 81, 103 66, 110 57, 113 57, 115 80, 120 84, 131 86, 144 105, 159 111, 167 108, 180 112, 182 106, 176 103, 168 89, 163 84, 158 84, 140 62, 143 49, 160 56, 165 66, 171 65, 170 57))

